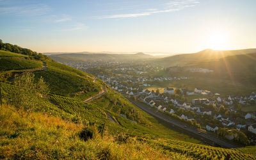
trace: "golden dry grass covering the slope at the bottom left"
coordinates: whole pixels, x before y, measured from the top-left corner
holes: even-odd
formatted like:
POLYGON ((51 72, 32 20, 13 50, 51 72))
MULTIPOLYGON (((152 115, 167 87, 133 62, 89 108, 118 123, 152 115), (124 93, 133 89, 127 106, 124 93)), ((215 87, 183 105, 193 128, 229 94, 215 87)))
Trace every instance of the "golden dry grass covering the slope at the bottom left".
POLYGON ((88 141, 79 138, 83 124, 66 122, 46 113, 21 117, 10 106, 0 109, 0 159, 186 159, 128 138, 117 140, 96 132, 88 141))

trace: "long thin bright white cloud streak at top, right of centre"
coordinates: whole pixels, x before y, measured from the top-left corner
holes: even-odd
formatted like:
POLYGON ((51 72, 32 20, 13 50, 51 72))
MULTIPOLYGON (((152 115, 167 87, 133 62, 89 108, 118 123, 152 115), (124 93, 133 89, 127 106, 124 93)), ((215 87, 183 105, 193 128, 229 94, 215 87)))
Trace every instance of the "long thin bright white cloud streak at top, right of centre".
POLYGON ((197 0, 175 0, 166 3, 163 9, 148 9, 146 12, 140 13, 127 13, 127 14, 116 14, 116 15, 104 15, 99 17, 99 19, 118 19, 118 18, 129 18, 129 17, 141 17, 152 15, 155 13, 167 13, 167 12, 175 12, 179 10, 184 10, 185 8, 189 8, 192 6, 196 6, 200 2, 197 0))

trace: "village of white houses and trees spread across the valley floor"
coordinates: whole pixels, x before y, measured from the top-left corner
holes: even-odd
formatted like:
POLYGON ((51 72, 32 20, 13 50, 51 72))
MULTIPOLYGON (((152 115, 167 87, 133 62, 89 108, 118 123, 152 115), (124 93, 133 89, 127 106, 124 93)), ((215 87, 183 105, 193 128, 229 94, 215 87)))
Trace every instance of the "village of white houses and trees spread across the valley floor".
POLYGON ((188 125, 205 129, 228 140, 237 134, 246 134, 252 144, 256 144, 256 114, 241 111, 246 106, 256 104, 255 92, 250 95, 221 95, 204 88, 165 87, 163 92, 148 90, 158 83, 189 79, 189 77, 152 77, 150 73, 163 68, 150 65, 129 65, 116 61, 102 63, 104 70, 96 63, 67 64, 86 70, 127 97, 147 104, 148 107, 178 118, 188 125), (96 67, 97 66, 97 67, 96 67), (190 97, 195 97, 191 99, 190 97))

